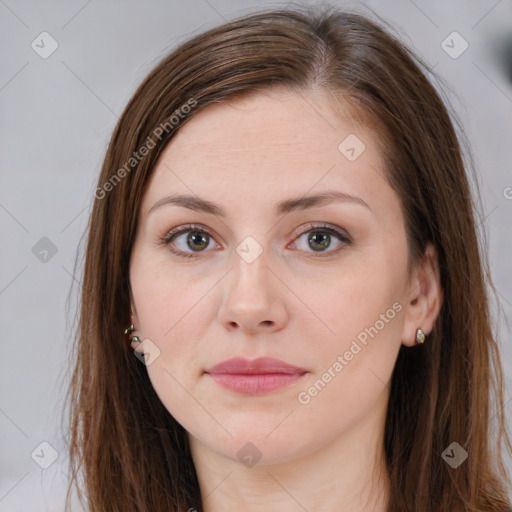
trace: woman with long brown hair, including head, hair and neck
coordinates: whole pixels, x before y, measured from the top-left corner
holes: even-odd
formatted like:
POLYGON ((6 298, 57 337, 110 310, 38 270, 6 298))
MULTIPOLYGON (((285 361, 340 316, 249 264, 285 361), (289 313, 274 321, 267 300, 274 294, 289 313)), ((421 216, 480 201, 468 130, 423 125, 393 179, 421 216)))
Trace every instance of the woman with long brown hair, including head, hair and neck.
POLYGON ((89 510, 510 508, 487 267, 422 67, 361 15, 296 8, 144 80, 88 233, 89 510))

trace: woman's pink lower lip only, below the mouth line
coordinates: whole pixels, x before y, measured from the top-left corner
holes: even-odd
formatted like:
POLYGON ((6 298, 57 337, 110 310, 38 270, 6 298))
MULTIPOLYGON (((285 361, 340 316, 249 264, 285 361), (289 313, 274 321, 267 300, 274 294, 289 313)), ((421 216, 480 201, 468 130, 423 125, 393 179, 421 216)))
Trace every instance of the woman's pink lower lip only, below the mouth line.
POLYGON ((210 377, 223 388, 244 395, 261 395, 284 388, 298 381, 301 373, 209 373, 210 377))

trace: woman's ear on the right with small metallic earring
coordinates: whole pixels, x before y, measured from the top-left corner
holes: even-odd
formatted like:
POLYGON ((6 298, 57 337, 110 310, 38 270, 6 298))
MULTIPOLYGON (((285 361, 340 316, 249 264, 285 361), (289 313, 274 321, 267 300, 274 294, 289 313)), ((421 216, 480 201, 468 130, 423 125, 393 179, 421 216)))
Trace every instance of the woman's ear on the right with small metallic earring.
POLYGON ((405 346, 416 344, 418 328, 426 335, 432 332, 443 300, 437 251, 434 245, 428 242, 423 258, 414 269, 409 284, 402 329, 402 343, 405 346))

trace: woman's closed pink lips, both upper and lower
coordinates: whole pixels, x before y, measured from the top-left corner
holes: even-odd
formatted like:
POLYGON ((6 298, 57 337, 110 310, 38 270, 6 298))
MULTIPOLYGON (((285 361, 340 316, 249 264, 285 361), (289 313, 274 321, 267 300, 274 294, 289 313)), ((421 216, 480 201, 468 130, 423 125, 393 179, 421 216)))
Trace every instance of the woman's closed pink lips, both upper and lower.
POLYGON ((253 360, 235 357, 205 370, 205 373, 230 391, 257 395, 293 384, 307 370, 272 357, 253 360))

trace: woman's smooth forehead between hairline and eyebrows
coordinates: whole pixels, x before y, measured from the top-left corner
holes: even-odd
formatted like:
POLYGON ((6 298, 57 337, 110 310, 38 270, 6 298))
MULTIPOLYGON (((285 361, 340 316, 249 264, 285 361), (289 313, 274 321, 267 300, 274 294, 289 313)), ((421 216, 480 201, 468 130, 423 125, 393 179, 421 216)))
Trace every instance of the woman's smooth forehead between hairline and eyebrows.
POLYGON ((209 105, 162 152, 145 210, 164 192, 277 202, 334 187, 374 201, 385 184, 378 141, 351 114, 342 98, 320 91, 268 90, 209 105))

